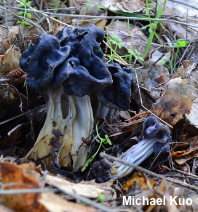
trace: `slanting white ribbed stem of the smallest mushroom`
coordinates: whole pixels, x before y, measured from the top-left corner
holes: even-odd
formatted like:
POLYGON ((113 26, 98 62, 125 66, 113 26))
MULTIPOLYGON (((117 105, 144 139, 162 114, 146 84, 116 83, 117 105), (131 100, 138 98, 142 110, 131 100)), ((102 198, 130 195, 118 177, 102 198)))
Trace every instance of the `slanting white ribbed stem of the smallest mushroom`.
MULTIPOLYGON (((144 139, 138 144, 133 145, 125 153, 121 154, 119 159, 131 163, 133 165, 140 165, 146 160, 153 152, 153 145, 156 138, 144 139)), ((114 162, 111 168, 111 175, 113 177, 124 177, 133 171, 132 167, 126 166, 119 162, 114 162)))

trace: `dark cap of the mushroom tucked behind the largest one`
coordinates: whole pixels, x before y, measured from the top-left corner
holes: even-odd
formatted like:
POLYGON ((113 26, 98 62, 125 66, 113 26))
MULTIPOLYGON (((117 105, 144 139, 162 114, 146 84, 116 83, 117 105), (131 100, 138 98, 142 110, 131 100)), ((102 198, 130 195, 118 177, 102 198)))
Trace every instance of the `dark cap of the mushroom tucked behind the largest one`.
POLYGON ((134 69, 122 68, 114 62, 107 63, 107 67, 112 75, 113 83, 98 94, 98 100, 109 108, 127 110, 130 105, 134 69))

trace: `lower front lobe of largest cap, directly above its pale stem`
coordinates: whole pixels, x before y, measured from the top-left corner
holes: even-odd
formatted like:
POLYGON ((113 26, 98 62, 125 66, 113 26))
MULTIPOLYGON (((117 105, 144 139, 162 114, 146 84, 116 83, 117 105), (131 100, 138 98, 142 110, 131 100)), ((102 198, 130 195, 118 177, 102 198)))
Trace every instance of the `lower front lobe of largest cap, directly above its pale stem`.
POLYGON ((84 96, 90 92, 102 91, 111 83, 109 72, 103 72, 103 78, 95 78, 82 65, 78 58, 71 57, 59 66, 54 80, 54 86, 63 84, 68 95, 84 96), (108 80, 109 79, 109 80, 108 80))

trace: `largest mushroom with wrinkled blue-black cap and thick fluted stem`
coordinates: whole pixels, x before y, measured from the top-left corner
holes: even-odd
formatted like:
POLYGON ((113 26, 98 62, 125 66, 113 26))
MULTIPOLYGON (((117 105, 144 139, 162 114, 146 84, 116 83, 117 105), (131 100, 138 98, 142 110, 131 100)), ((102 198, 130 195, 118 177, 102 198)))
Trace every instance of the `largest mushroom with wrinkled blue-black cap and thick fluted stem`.
MULTIPOLYGON (((116 79, 116 74, 120 76, 119 71, 111 73, 103 60, 99 48, 103 39, 104 32, 94 25, 64 28, 56 37, 41 34, 23 53, 20 66, 27 72, 28 86, 39 91, 47 104, 46 121, 36 143, 43 140, 34 149, 33 159, 52 151, 52 132, 59 130, 63 136, 57 165, 77 169, 86 162, 89 146, 83 143, 82 137, 91 135, 94 124, 90 94, 106 89, 110 92, 113 78, 116 79)), ((124 72, 130 81, 131 71, 124 69, 124 72)), ((127 84, 129 97, 130 85, 127 84)), ((50 157, 44 162, 51 167, 50 157)))

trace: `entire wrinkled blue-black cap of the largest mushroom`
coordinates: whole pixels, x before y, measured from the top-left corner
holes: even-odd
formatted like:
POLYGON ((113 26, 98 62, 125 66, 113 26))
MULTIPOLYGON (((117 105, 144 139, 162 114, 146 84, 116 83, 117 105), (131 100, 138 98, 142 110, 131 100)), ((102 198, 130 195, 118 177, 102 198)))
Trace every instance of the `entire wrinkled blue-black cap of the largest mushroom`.
POLYGON ((41 34, 20 59, 28 85, 38 91, 62 84, 66 94, 77 96, 105 90, 113 80, 99 49, 103 38, 94 25, 64 28, 57 37, 41 34))

